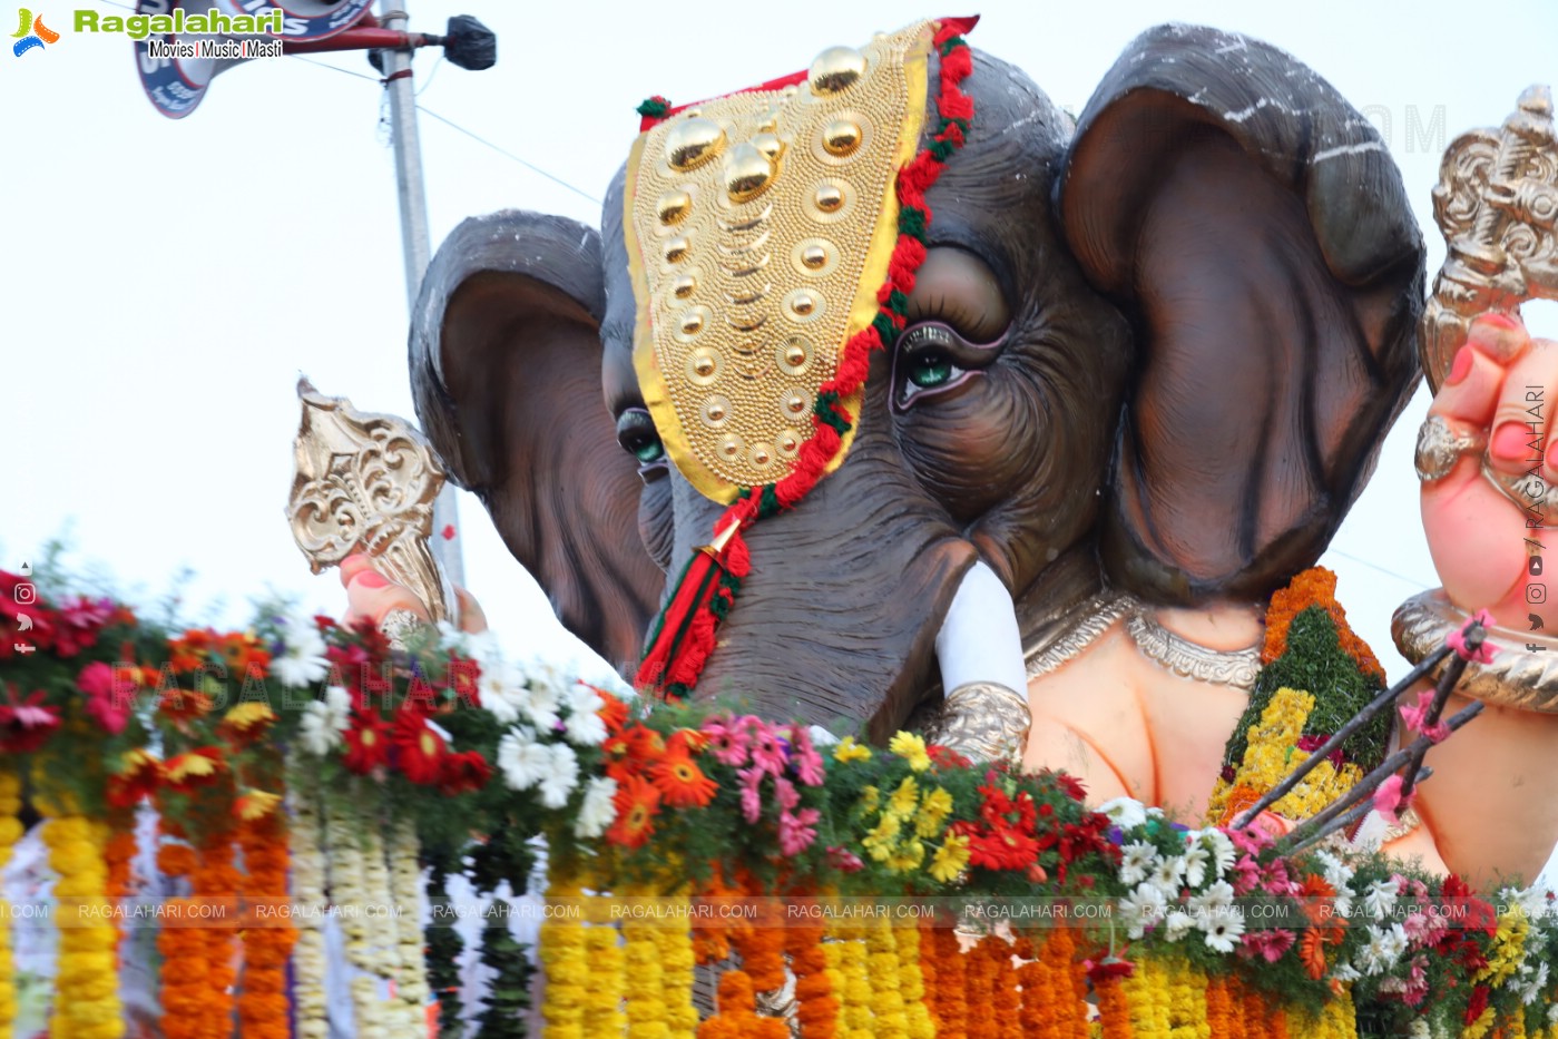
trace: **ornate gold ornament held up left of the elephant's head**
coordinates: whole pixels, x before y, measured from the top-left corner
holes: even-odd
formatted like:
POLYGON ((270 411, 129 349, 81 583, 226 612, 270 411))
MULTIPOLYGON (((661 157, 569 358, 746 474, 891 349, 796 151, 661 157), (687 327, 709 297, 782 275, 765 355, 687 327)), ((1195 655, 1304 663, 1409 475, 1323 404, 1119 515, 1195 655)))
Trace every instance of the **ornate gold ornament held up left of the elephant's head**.
POLYGON ((352 553, 408 587, 433 620, 449 620, 428 537, 444 467, 427 439, 404 419, 357 411, 298 380, 302 422, 293 442, 294 477, 287 520, 308 567, 321 573, 352 553))

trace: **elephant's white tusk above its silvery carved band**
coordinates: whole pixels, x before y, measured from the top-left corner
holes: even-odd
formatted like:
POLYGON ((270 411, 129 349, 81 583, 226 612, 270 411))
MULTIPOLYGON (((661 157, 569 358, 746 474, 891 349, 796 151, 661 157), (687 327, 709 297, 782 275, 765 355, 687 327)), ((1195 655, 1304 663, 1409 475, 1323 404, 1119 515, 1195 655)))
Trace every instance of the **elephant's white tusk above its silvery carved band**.
POLYGON ((936 632, 936 659, 944 692, 969 682, 996 682, 1027 699, 1028 671, 1022 662, 1017 608, 985 562, 975 562, 963 575, 936 632))

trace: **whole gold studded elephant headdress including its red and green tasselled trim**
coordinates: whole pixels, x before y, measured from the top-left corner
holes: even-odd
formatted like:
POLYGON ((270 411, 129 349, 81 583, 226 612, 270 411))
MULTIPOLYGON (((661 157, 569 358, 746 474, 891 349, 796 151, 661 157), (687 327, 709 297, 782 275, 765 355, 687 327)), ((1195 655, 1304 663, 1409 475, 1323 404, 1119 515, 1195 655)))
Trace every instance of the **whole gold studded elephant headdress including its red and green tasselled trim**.
POLYGON ((676 469, 731 508, 676 583, 639 685, 692 689, 748 573, 742 530, 843 464, 871 350, 904 327, 925 257, 924 193, 974 114, 958 89, 974 22, 919 22, 753 90, 640 106, 623 213, 639 388, 676 469))

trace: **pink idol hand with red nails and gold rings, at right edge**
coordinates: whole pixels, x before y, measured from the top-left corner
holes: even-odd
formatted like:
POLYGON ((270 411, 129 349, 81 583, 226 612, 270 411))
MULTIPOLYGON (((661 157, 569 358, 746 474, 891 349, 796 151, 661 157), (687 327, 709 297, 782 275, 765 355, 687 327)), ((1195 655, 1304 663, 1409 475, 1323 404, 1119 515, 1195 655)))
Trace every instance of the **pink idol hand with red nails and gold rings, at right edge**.
POLYGON ((1547 486, 1558 478, 1549 439, 1558 393, 1558 344, 1533 340, 1517 318, 1472 324, 1429 408, 1419 439, 1422 527, 1444 590, 1461 609, 1486 608, 1502 628, 1530 631, 1547 617, 1547 486), (1424 450, 1426 446, 1436 446, 1424 450), (1483 450, 1486 449, 1486 450, 1483 450), (1457 455, 1458 452, 1458 455, 1457 455), (1483 474, 1505 477, 1513 495, 1483 474))

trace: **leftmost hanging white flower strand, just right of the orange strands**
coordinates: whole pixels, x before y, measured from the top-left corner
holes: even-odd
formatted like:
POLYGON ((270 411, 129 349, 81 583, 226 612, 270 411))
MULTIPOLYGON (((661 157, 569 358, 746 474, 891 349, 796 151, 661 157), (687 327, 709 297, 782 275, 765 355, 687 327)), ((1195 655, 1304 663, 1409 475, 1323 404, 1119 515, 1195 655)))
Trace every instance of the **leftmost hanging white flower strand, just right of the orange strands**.
POLYGON ((291 844, 291 897, 301 922, 293 944, 293 1027, 298 1039, 327 1039, 326 974, 329 955, 324 942, 326 858, 318 791, 293 760, 287 784, 291 844), (304 784, 308 785, 304 790, 304 784))

